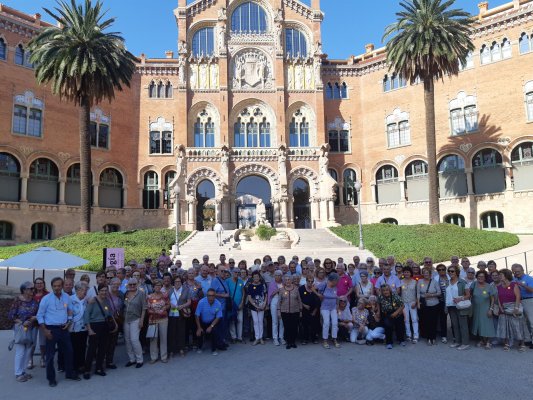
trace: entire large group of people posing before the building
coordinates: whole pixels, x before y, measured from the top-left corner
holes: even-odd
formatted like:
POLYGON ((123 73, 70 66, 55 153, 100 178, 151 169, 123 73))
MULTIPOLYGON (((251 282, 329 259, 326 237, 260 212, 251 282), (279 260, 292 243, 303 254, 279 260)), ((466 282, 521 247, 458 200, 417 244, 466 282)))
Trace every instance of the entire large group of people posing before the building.
POLYGON ((126 367, 151 364, 209 349, 272 340, 286 349, 344 343, 406 346, 424 340, 457 350, 471 343, 519 352, 533 348, 533 277, 520 264, 497 269, 494 261, 452 257, 448 265, 396 262, 393 256, 361 262, 354 256, 324 260, 269 255, 237 264, 221 254, 186 268, 163 251, 155 264, 132 260, 78 280, 76 271, 20 287, 9 317, 14 321, 15 377, 31 379, 34 351, 49 385, 57 369, 66 379, 106 376, 117 368, 115 349, 124 340, 126 367), (450 324, 448 323, 450 322, 450 324), (57 353, 57 357, 56 357, 57 353))

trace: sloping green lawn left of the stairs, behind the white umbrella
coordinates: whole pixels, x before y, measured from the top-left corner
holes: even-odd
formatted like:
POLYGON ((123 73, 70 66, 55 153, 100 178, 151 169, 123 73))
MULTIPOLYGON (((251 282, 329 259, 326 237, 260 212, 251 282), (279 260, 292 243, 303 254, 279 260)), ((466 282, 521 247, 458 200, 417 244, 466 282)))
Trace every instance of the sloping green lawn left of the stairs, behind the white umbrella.
MULTIPOLYGON (((180 231, 180 241, 190 232, 180 231)), ((171 249, 174 244, 175 231, 173 229, 145 229, 116 233, 73 233, 58 239, 21 244, 18 246, 0 247, 0 259, 7 259, 18 254, 26 253, 37 247, 53 247, 56 250, 71 253, 89 260, 89 264, 80 269, 98 271, 102 267, 102 249, 124 248, 126 260, 143 261, 145 257, 157 259, 161 249, 171 249)))

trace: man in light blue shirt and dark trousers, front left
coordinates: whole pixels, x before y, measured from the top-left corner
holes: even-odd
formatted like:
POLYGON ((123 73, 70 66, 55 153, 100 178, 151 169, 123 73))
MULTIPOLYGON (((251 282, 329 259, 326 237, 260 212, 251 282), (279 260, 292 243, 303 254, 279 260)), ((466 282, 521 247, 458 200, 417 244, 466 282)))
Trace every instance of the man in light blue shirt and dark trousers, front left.
MULTIPOLYGON (((105 280, 105 274, 104 274, 105 280)), ((37 321, 46 338, 46 379, 50 387, 57 386, 54 357, 56 346, 61 349, 65 363, 65 378, 79 381, 74 371, 72 342, 69 327, 72 323, 70 296, 63 292, 63 279, 52 279, 52 292, 44 296, 39 304, 37 321)))

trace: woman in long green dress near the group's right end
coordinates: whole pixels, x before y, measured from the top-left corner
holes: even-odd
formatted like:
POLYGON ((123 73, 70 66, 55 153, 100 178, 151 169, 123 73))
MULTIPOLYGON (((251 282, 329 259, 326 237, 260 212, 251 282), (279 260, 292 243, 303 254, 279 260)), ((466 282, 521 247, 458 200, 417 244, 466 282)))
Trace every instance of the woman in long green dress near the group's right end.
MULTIPOLYGON (((468 272, 468 271, 467 271, 468 272)), ((491 348, 490 338, 496 335, 492 322, 498 291, 487 283, 487 272, 478 271, 476 281, 470 285, 472 296, 472 333, 481 338, 478 347, 491 348)))

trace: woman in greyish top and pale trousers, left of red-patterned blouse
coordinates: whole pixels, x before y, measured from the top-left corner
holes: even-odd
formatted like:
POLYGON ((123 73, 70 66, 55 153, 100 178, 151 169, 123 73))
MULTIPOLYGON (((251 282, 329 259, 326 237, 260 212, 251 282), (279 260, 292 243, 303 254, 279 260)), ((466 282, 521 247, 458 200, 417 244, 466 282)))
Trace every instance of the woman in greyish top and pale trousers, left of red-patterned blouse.
POLYGON ((143 352, 139 333, 144 324, 146 313, 146 295, 137 287, 137 279, 128 281, 128 291, 124 296, 124 340, 129 361, 126 367, 135 365, 136 368, 143 366, 143 352))

